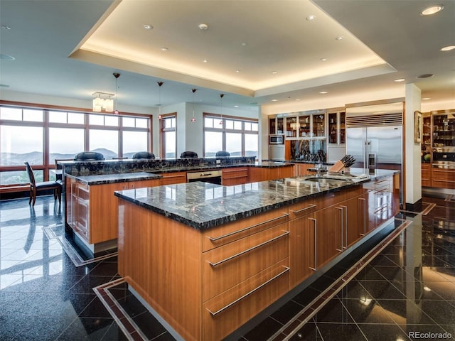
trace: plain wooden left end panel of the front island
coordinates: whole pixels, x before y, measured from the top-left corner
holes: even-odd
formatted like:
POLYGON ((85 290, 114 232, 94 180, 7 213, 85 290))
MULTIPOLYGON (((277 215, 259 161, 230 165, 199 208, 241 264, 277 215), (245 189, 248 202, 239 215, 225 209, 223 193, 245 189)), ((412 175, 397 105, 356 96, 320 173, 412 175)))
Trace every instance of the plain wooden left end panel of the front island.
POLYGON ((200 337, 200 232, 119 199, 119 275, 184 340, 200 337))

